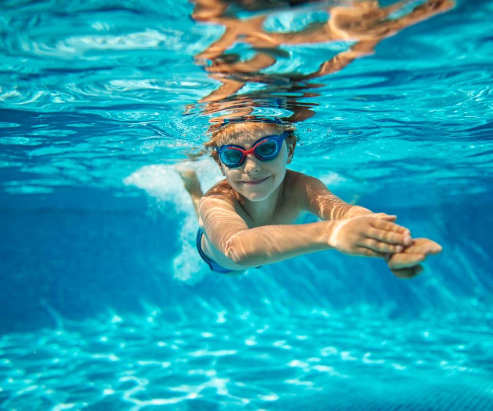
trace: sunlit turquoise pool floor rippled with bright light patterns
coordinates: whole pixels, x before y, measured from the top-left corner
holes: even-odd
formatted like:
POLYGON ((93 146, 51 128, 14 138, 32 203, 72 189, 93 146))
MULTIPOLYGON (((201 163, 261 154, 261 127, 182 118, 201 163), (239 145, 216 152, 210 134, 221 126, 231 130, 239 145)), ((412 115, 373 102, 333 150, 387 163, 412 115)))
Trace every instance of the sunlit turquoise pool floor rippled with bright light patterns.
POLYGON ((485 321, 154 311, 8 334, 0 409, 490 410, 485 321))

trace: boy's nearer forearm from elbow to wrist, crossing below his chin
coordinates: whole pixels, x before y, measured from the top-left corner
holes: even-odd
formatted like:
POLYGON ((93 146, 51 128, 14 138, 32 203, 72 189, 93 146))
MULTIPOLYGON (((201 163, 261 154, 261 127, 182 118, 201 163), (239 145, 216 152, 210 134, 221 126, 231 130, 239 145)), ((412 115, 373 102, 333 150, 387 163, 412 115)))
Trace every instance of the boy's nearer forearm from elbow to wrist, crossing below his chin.
POLYGON ((276 263, 316 251, 328 250, 337 221, 272 225, 242 231, 229 240, 226 256, 244 267, 276 263))

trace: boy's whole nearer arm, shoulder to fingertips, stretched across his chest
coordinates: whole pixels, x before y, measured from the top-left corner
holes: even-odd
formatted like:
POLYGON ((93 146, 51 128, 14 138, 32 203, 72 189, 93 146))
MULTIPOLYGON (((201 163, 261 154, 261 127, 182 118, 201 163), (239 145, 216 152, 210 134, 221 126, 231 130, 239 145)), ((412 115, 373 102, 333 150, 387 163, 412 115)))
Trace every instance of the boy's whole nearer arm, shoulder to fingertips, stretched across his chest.
POLYGON ((331 248, 349 255, 384 257, 386 253, 402 251, 410 241, 406 228, 385 218, 365 216, 249 229, 235 210, 234 198, 228 196, 218 183, 202 197, 199 211, 207 239, 213 246, 211 252, 216 253, 213 257, 227 257, 232 269, 276 263, 331 248))

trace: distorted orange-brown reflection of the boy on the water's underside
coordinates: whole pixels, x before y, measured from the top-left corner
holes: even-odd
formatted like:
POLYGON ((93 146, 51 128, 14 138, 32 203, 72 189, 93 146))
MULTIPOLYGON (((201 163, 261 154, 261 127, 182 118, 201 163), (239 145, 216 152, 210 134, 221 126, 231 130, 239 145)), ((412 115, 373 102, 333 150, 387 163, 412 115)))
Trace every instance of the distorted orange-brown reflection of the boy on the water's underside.
MULTIPOLYGON (((203 65, 204 69, 210 73, 210 77, 222 83, 218 89, 202 98, 199 103, 206 103, 203 107, 206 113, 238 106, 232 97, 247 83, 267 85, 267 93, 265 91, 263 95, 259 95, 258 92, 256 95, 254 93, 251 96, 254 100, 268 98, 268 94, 293 91, 292 87, 296 83, 336 72, 356 58, 372 54, 375 46, 383 39, 431 16, 447 11, 454 5, 452 0, 428 0, 408 10, 405 6, 410 3, 415 2, 401 1, 382 7, 377 1, 197 0, 192 14, 195 20, 225 27, 221 38, 195 57, 197 64, 203 65), (271 32, 264 29, 264 23, 272 13, 267 10, 279 10, 307 3, 313 3, 312 8, 327 11, 328 20, 311 23, 300 31, 288 33, 271 32), (250 18, 238 18, 238 10, 241 11, 241 9, 264 10, 265 12, 256 13, 250 18), (262 73, 263 69, 273 66, 279 58, 289 55, 280 48, 282 45, 336 41, 351 41, 354 44, 348 50, 338 52, 334 57, 321 63, 318 70, 312 73, 262 73), (235 43, 248 44, 255 52, 254 57, 243 61, 236 53, 226 53, 235 43), (226 99, 228 99, 227 102, 225 102, 226 99), (207 105, 212 102, 224 102, 225 104, 207 105)), ((302 88, 307 88, 307 86, 297 85, 297 89, 302 88)))

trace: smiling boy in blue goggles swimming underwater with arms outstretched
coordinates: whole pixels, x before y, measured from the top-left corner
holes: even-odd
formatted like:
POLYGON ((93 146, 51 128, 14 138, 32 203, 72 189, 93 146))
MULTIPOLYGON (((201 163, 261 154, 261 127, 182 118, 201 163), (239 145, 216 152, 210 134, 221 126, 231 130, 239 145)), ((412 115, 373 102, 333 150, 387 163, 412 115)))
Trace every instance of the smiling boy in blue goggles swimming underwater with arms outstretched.
POLYGON ((351 206, 317 178, 287 170, 293 160, 293 129, 278 121, 232 122, 205 146, 226 177, 203 196, 196 175, 179 172, 199 217, 197 248, 213 271, 241 274, 247 268, 301 254, 336 249, 383 257, 398 277, 423 271, 419 264, 442 248, 412 239, 396 216, 351 206), (308 211, 321 221, 293 224, 308 211))

